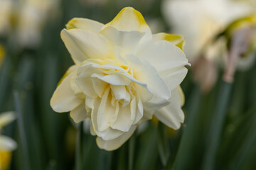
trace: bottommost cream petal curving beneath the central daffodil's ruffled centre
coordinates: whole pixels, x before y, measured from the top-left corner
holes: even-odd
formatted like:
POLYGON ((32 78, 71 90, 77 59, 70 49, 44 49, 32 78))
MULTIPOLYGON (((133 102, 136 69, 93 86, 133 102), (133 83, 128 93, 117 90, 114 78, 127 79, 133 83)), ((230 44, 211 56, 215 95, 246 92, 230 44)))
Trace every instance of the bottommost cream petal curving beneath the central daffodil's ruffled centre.
POLYGON ((134 131, 136 130, 137 126, 133 125, 129 132, 124 132, 124 134, 120 135, 119 137, 115 138, 114 140, 103 140, 100 137, 97 137, 96 142, 98 147, 100 147, 101 149, 105 149, 107 151, 112 151, 114 149, 118 149, 119 147, 121 147, 124 142, 126 142, 129 137, 132 136, 132 134, 134 133, 134 131))

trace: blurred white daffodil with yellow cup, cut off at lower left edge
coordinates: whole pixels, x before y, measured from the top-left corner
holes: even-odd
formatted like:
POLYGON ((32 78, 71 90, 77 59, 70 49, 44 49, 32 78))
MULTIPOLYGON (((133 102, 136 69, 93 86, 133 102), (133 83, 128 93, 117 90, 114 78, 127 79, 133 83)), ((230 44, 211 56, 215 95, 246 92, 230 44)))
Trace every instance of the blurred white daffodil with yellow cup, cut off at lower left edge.
MULTIPOLYGON (((0 130, 5 125, 16 119, 14 112, 6 112, 0 114, 0 130)), ((11 151, 16 149, 16 142, 10 137, 0 135, 0 169, 9 169, 11 162, 11 151)))

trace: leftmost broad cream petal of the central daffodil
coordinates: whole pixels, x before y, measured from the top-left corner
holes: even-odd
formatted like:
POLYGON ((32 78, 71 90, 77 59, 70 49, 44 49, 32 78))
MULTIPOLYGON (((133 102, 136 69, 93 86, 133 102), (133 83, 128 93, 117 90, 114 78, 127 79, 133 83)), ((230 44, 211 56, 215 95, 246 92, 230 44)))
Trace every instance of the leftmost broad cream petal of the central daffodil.
POLYGON ((78 107, 82 100, 74 95, 74 91, 70 88, 70 79, 75 72, 68 74, 54 91, 50 98, 50 106, 56 112, 68 112, 78 107))

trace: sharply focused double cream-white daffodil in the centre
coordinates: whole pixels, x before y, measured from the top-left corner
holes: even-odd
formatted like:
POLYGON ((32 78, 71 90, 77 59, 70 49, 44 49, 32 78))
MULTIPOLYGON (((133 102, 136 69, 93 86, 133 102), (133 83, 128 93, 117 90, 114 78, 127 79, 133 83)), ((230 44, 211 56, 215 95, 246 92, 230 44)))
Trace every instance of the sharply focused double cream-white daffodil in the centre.
POLYGON ((117 149, 153 115, 180 128, 184 98, 179 84, 190 65, 181 36, 152 35, 142 14, 128 7, 106 25, 73 18, 61 38, 75 64, 50 106, 70 111, 75 123, 90 118, 100 148, 117 149))

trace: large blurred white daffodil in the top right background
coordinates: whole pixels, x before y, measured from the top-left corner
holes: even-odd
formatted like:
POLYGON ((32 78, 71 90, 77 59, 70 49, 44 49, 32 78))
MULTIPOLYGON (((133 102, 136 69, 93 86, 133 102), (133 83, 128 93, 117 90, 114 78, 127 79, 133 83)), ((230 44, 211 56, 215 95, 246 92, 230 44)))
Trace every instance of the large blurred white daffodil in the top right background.
POLYGON ((255 12, 250 3, 234 0, 165 0, 162 7, 173 32, 186 39, 184 52, 192 63, 230 23, 255 12))

